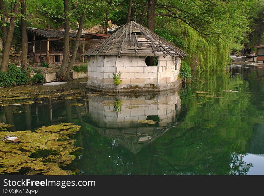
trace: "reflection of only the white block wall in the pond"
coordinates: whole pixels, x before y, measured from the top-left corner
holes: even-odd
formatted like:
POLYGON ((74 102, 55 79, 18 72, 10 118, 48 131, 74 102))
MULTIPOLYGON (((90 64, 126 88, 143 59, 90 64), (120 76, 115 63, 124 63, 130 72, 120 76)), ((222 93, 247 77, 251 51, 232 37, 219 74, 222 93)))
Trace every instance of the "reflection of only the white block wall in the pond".
POLYGON ((146 128, 147 116, 158 116, 159 127, 176 122, 181 110, 181 99, 177 92, 162 93, 154 99, 152 96, 128 98, 118 96, 119 110, 116 111, 115 100, 105 100, 101 96, 88 96, 90 119, 100 128, 146 128))

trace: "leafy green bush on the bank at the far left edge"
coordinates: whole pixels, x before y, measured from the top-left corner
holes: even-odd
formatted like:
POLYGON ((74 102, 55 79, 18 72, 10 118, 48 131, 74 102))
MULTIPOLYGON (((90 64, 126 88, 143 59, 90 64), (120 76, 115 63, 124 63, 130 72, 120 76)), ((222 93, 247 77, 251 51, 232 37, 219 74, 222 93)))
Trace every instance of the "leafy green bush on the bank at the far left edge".
POLYGON ((0 86, 10 87, 15 85, 23 85, 29 82, 29 77, 21 69, 13 64, 8 66, 7 72, 0 71, 0 86))

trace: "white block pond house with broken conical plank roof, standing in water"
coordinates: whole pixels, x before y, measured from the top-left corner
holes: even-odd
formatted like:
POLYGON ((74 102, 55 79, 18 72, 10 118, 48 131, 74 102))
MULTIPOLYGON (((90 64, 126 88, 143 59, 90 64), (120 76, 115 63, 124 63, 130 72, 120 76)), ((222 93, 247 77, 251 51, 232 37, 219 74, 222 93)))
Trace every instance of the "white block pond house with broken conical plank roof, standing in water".
POLYGON ((162 91, 181 85, 181 58, 187 53, 131 21, 83 56, 88 60, 88 89, 162 91), (113 73, 119 72, 122 82, 115 85, 113 73))

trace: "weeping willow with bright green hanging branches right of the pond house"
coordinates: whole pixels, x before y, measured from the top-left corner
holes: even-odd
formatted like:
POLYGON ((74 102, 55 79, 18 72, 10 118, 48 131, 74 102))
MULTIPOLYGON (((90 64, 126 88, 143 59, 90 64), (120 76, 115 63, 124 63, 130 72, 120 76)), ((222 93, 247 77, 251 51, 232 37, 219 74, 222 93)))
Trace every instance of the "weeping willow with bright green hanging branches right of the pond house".
POLYGON ((156 1, 156 33, 184 49, 199 71, 224 69, 232 50, 247 42, 250 1, 156 1))

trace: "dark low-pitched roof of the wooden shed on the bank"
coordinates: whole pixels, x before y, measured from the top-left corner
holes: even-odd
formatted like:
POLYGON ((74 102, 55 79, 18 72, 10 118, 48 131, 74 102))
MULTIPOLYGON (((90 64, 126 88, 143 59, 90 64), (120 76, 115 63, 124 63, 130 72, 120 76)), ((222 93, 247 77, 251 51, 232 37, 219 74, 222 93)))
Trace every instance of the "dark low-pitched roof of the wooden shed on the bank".
MULTIPOLYGON (((33 28, 33 27, 28 27, 28 31, 38 34, 41 37, 45 38, 64 38, 64 31, 57 31, 53 29, 38 29, 38 28, 33 28)), ((77 34, 75 33, 70 33, 71 38, 76 38, 77 34)), ((84 37, 84 36, 81 36, 84 37)))

